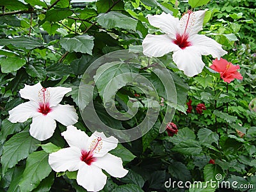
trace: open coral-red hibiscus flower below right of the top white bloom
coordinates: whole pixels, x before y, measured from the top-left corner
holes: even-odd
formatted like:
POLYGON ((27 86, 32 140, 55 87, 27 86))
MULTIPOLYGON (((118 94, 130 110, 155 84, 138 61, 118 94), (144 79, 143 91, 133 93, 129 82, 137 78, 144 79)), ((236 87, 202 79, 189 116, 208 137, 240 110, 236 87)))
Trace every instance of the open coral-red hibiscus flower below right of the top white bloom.
POLYGON ((243 79, 241 74, 237 71, 237 69, 240 68, 239 65, 233 65, 223 58, 213 60, 210 68, 219 72, 221 79, 227 83, 230 83, 234 79, 243 79))

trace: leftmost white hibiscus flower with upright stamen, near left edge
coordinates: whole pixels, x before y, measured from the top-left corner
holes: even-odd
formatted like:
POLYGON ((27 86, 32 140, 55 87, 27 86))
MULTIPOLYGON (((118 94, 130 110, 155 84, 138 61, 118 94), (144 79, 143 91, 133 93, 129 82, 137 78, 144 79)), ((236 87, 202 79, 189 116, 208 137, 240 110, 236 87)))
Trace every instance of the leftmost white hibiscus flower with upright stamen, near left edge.
POLYGON ((59 104, 72 88, 49 87, 43 88, 40 83, 33 86, 25 84, 19 91, 20 97, 29 99, 9 111, 8 120, 12 123, 26 122, 32 118, 29 132, 37 140, 51 138, 56 128, 56 121, 68 126, 76 124, 78 116, 74 106, 59 104))

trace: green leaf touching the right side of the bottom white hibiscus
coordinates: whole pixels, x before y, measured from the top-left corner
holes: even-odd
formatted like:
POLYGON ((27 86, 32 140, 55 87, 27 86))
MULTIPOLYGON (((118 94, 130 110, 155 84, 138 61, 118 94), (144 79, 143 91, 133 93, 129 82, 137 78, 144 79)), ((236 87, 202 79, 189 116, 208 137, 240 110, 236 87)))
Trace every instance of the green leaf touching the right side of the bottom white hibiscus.
POLYGON ((114 156, 121 157, 123 164, 131 162, 136 157, 120 143, 118 143, 117 147, 111 150, 109 153, 114 156))

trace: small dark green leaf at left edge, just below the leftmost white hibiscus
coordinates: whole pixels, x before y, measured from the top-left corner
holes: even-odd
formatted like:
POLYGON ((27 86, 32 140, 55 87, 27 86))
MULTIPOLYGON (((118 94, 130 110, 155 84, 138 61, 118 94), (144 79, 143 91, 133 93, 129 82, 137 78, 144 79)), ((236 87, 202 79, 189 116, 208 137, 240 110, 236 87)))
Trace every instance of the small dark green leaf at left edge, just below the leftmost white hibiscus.
POLYGON ((22 125, 20 123, 13 124, 8 119, 4 119, 1 125, 2 138, 5 140, 8 135, 21 131, 22 125))

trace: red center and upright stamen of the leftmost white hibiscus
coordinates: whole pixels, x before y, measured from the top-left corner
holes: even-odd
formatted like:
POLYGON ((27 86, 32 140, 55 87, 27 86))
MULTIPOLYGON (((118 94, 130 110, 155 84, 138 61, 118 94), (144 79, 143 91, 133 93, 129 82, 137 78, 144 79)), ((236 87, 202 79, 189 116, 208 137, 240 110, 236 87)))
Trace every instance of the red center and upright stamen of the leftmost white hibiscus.
POLYGON ((42 88, 38 92, 38 99, 39 99, 39 108, 37 111, 42 113, 43 115, 47 115, 47 113, 51 112, 50 104, 49 104, 50 92, 47 88, 42 88))

